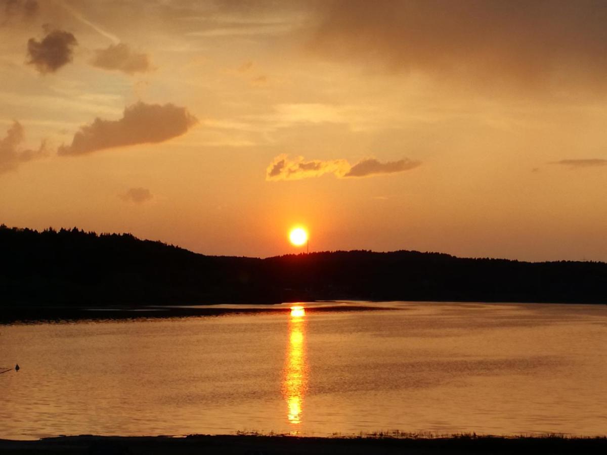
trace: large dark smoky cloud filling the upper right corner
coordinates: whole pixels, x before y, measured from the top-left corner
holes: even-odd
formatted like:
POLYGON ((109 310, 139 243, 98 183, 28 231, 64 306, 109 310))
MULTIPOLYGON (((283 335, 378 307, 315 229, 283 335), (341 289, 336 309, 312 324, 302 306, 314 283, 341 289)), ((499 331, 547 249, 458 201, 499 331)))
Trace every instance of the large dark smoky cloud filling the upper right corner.
POLYGON ((334 0, 313 52, 500 86, 607 86, 607 2, 334 0))

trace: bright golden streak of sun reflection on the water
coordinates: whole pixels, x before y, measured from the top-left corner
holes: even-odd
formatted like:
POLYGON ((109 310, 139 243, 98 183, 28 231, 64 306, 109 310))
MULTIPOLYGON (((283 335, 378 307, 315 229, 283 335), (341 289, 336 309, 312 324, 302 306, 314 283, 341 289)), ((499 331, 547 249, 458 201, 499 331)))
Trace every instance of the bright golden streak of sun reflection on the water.
POLYGON ((305 309, 302 306, 291 307, 289 318, 289 345, 282 380, 282 394, 287 402, 287 419, 297 434, 297 425, 301 423, 303 401, 307 386, 307 364, 305 358, 305 309))

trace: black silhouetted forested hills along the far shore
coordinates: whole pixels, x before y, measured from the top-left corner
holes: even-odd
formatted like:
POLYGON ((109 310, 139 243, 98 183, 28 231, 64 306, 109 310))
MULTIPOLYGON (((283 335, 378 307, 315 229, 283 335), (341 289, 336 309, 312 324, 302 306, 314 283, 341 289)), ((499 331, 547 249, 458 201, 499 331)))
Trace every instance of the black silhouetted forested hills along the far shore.
POLYGON ((206 256, 130 234, 0 226, 0 306, 297 300, 607 303, 607 264, 395 251, 206 256))

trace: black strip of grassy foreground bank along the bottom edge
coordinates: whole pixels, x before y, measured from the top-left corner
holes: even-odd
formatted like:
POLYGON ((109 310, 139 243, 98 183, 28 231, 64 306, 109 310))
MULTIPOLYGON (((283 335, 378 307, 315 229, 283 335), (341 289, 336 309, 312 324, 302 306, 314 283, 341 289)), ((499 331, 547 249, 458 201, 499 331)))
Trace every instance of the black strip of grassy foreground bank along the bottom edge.
POLYGON ((181 438, 69 436, 0 440, 2 454, 467 454, 607 453, 607 439, 563 437, 320 438, 188 436, 181 438))

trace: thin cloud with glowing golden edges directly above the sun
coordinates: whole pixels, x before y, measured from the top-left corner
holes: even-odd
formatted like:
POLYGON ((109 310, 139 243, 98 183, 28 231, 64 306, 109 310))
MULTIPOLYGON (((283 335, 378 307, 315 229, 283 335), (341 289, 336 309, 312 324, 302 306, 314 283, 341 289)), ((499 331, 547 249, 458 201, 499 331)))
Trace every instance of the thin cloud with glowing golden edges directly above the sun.
POLYGON ((393 174, 418 167, 419 161, 408 159, 380 163, 375 158, 365 158, 351 166, 347 160, 310 160, 296 157, 290 160, 287 155, 279 155, 266 169, 266 180, 300 180, 302 178, 320 177, 324 174, 333 174, 337 178, 370 177, 371 175, 393 174))

